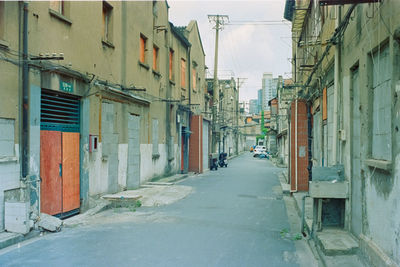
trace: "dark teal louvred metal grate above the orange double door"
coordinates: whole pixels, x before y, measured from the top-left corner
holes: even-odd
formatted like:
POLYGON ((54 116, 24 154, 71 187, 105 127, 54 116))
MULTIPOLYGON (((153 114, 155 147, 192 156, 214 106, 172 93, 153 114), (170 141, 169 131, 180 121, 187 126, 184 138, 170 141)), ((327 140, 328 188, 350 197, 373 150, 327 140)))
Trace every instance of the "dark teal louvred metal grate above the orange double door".
POLYGON ((58 91, 42 90, 40 129, 79 132, 79 97, 58 91))

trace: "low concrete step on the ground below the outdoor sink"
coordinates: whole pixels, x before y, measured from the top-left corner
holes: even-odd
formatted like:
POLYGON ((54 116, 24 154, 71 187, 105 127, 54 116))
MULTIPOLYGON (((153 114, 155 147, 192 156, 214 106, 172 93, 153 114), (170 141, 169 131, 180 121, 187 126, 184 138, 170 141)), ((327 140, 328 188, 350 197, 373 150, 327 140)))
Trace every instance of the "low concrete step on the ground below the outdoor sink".
POLYGON ((323 229, 317 233, 317 243, 327 256, 353 255, 358 250, 358 242, 342 229, 323 229))

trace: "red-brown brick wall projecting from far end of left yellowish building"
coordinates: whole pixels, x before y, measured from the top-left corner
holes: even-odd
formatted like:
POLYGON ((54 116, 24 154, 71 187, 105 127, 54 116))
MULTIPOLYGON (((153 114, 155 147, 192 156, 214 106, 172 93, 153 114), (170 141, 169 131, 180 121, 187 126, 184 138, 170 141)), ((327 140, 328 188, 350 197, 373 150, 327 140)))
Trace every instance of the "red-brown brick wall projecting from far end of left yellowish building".
POLYGON ((203 117, 201 115, 192 116, 190 121, 189 138, 189 171, 203 172, 203 117))

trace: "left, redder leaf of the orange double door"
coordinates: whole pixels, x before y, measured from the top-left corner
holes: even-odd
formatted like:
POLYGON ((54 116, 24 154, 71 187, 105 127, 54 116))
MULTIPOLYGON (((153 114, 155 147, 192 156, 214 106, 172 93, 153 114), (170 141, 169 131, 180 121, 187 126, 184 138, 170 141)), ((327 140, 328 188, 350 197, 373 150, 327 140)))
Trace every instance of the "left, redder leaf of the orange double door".
POLYGON ((61 132, 40 131, 41 212, 62 212, 61 132))

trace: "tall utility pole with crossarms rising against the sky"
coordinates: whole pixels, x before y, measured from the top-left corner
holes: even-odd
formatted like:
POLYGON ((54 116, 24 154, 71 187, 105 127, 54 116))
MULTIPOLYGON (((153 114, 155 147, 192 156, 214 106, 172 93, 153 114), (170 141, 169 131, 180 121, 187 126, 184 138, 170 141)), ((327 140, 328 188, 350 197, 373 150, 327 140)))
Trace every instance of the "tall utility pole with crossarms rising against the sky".
POLYGON ((210 23, 215 23, 215 54, 214 54, 214 84, 213 84, 213 106, 212 106, 212 141, 211 141, 211 152, 217 151, 217 140, 220 138, 219 129, 217 129, 217 102, 219 101, 219 90, 218 90, 218 37, 219 30, 222 30, 224 24, 229 20, 227 15, 208 15, 210 23))

